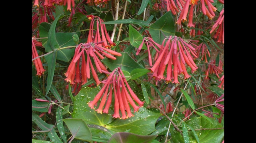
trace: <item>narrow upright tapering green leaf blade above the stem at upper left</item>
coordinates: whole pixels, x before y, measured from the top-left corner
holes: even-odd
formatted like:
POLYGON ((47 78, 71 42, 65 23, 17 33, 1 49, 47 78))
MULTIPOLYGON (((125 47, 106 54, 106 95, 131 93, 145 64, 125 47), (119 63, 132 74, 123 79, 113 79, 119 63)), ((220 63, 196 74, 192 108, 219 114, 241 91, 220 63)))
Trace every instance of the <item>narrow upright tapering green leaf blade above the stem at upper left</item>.
POLYGON ((56 29, 56 24, 59 20, 61 15, 55 17, 55 20, 53 21, 53 24, 51 25, 50 29, 49 29, 49 32, 48 32, 48 40, 46 45, 45 45, 45 51, 48 53, 48 52, 51 52, 55 49, 58 49, 60 46, 57 42, 57 39, 56 39, 56 32, 55 32, 55 29, 56 29))

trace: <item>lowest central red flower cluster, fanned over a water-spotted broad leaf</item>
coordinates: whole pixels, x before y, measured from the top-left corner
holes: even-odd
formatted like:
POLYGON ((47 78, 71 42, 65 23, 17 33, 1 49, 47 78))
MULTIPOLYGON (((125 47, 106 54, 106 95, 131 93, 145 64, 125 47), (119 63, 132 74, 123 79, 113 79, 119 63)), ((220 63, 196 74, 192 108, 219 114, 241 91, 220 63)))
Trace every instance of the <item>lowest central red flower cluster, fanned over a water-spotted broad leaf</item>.
POLYGON ((106 74, 109 74, 109 76, 106 80, 102 81, 104 86, 98 92, 98 94, 94 97, 94 100, 88 103, 89 104, 88 106, 91 107, 91 109, 96 108, 95 111, 97 111, 97 113, 100 113, 100 114, 108 113, 112 99, 114 99, 113 118, 120 118, 119 109, 122 114, 122 117, 121 117, 122 119, 127 119, 134 116, 131 112, 130 105, 133 107, 133 111, 137 112, 139 108, 143 106, 144 102, 140 101, 140 99, 136 96, 136 94, 130 88, 127 80, 124 77, 124 74, 121 68, 120 67, 116 68, 115 70, 112 71, 112 73, 109 73, 108 71, 103 71, 103 72, 106 74), (112 93, 114 95, 112 95, 112 93), (100 99, 101 99, 100 105, 98 107, 94 107, 100 99), (138 105, 136 105, 134 101, 138 105))

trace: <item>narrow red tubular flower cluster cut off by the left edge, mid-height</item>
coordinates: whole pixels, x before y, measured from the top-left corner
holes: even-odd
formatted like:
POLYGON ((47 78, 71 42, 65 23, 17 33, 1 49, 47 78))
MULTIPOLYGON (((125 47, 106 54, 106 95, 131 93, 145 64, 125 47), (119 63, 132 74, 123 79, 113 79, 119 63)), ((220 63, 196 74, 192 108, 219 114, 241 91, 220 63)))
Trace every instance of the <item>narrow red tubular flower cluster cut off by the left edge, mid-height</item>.
MULTIPOLYGON (((39 56, 35 46, 42 46, 42 43, 39 41, 36 41, 36 39, 34 39, 34 38, 35 38, 35 36, 32 37, 32 59, 39 56)), ((44 71, 46 71, 43 67, 42 61, 40 60, 40 58, 36 58, 33 60, 33 63, 35 65, 35 69, 37 71, 36 75, 41 77, 41 75, 44 74, 44 71)))

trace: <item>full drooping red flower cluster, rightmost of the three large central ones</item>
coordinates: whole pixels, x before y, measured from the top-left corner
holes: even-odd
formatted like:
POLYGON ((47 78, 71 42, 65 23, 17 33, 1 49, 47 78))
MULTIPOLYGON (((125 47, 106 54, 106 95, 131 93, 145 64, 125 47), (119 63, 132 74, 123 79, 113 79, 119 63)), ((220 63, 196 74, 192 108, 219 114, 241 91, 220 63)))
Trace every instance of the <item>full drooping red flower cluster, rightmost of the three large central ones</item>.
MULTIPOLYGON (((197 57, 195 48, 190 44, 192 45, 191 42, 186 43, 182 38, 177 36, 166 38, 160 46, 153 67, 149 68, 153 72, 153 77, 172 83, 180 83, 178 81, 178 75, 180 74, 184 75, 184 79, 191 77, 186 70, 185 64, 189 65, 192 72, 196 71, 198 67, 192 57, 192 55, 197 57)), ((151 46, 153 45, 151 44, 151 46)))

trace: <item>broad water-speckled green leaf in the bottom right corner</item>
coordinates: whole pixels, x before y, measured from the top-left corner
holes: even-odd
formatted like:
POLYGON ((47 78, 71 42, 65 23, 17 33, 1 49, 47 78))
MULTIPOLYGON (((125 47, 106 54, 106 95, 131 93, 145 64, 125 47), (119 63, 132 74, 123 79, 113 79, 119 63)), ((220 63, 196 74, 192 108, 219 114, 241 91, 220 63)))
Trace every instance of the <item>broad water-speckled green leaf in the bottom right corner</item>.
MULTIPOLYGON (((193 128, 200 143, 221 143, 224 137, 224 129, 222 129, 222 125, 216 119, 211 118, 211 121, 212 123, 202 117, 192 117, 185 121, 185 123, 193 128)), ((170 127, 170 132, 172 135, 171 142, 184 142, 182 135, 174 129, 173 125, 170 127)), ((197 142, 192 131, 188 130, 188 136, 190 142, 197 142)))

